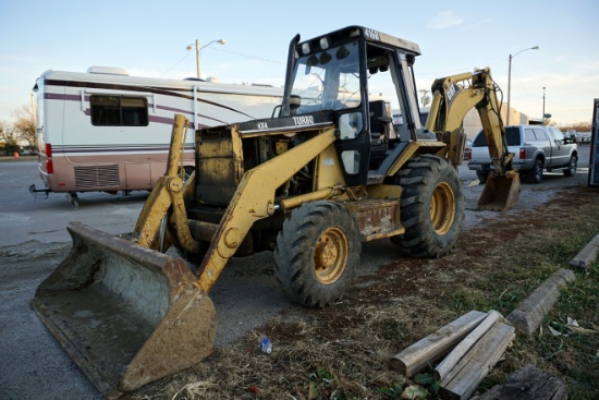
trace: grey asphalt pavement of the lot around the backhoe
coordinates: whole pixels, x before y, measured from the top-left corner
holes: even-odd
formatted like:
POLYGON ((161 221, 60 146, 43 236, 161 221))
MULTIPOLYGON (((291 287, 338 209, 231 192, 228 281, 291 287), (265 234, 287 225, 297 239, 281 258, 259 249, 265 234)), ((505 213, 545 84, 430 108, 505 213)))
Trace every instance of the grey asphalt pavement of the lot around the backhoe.
MULTIPOLYGON (((523 184, 521 203, 510 214, 539 207, 566 186, 586 185, 588 146, 580 146, 578 173, 564 178, 549 173, 538 185, 523 184)), ((102 231, 131 232, 147 193, 129 196, 89 193, 81 195, 73 209, 64 194, 34 197, 32 183, 39 185, 36 162, 0 163, 0 398, 63 399, 100 398, 87 378, 64 353, 29 307, 39 282, 65 256, 70 238, 65 227, 78 220, 102 231)), ((465 228, 501 214, 477 211, 482 190, 476 174, 460 167, 466 197, 465 228)), ((364 270, 375 270, 401 257, 387 241, 367 243, 364 270)), ((269 317, 294 305, 279 289, 272 275, 270 253, 233 259, 210 295, 219 315, 217 346, 224 346, 262 325, 269 317)))

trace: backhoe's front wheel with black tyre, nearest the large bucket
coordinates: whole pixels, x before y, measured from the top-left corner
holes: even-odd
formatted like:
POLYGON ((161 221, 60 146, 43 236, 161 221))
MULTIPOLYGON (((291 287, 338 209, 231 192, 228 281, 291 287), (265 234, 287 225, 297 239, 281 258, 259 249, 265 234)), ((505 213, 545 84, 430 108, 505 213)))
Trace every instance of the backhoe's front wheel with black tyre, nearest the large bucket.
POLYGON ((359 226, 347 208, 306 203, 291 213, 277 237, 276 276, 295 302, 322 307, 343 298, 360 251, 359 226))

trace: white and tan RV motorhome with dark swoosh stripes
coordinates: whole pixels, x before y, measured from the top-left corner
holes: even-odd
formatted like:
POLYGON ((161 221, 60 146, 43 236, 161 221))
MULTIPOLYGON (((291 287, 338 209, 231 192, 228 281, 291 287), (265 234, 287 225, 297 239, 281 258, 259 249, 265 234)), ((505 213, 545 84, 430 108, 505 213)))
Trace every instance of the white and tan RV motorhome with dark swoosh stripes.
POLYGON ((190 119, 184 163, 193 168, 194 130, 271 117, 283 96, 269 86, 129 76, 101 66, 46 71, 34 92, 42 191, 70 193, 75 207, 77 192, 151 190, 164 174, 175 113, 190 119))

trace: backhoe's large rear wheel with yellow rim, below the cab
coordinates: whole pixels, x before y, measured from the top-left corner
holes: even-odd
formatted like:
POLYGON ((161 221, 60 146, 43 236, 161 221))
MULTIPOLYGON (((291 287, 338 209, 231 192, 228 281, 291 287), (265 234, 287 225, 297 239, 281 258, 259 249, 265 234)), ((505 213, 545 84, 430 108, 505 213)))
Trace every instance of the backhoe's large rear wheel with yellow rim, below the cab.
POLYGON ((391 238, 403 253, 440 257, 457 241, 464 221, 464 195, 457 171, 447 158, 419 156, 395 177, 402 186, 401 221, 405 233, 391 238))

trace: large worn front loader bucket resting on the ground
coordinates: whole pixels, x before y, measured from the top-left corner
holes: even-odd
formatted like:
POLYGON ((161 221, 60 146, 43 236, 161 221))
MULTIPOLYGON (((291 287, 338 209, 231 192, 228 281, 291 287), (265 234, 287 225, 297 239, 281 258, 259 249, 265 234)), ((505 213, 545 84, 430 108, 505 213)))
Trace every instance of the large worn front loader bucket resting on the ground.
POLYGON ((187 368, 213 350, 216 311, 185 262, 80 222, 69 256, 32 306, 108 398, 187 368))

